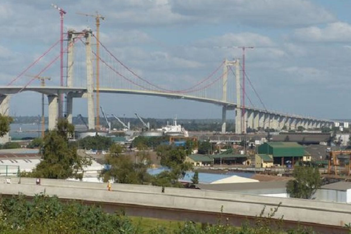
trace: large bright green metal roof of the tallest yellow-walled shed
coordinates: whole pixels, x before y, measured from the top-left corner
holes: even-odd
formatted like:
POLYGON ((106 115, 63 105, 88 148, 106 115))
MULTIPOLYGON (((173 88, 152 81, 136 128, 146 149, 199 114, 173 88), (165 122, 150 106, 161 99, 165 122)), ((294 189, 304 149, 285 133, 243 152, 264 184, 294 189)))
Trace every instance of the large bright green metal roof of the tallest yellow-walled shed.
POLYGON ((258 147, 259 154, 271 154, 273 157, 302 157, 304 147, 296 142, 268 142, 258 147))

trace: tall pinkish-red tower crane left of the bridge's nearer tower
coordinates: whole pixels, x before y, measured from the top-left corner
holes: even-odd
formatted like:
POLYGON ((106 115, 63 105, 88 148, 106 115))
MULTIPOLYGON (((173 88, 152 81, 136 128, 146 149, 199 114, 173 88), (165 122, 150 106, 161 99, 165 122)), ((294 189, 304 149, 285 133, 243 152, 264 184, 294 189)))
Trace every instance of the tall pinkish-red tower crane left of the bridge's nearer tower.
MULTIPOLYGON (((64 14, 67 12, 57 5, 51 4, 51 6, 57 9, 60 13, 60 86, 64 86, 64 14)), ((64 95, 59 95, 59 118, 62 117, 63 113, 63 102, 64 95)))

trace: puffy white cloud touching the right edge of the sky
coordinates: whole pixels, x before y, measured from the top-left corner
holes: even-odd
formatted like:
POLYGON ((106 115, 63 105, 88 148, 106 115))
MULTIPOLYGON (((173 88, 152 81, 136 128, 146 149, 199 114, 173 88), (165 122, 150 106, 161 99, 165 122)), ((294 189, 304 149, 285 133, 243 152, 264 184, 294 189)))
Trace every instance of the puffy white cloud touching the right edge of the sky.
POLYGON ((351 25, 345 22, 327 24, 324 28, 311 26, 294 30, 295 39, 306 42, 349 42, 351 25))

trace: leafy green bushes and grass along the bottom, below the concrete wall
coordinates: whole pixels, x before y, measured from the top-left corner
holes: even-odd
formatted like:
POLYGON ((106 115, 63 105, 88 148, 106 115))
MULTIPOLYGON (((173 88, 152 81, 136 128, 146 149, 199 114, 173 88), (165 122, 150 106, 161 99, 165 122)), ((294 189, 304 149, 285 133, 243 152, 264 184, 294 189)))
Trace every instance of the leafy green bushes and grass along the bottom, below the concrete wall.
MULTIPOLYGON (((223 209, 223 207, 221 208, 223 209)), ((213 225, 177 222, 152 218, 128 217, 123 212, 105 213, 101 208, 79 202, 60 202, 57 197, 36 195, 33 201, 24 196, 1 198, 0 234, 312 234, 311 229, 298 227, 284 231, 282 218, 275 219, 279 209, 265 209, 254 222, 233 227, 218 217, 213 225)), ((345 227, 346 230, 349 227, 345 227)))

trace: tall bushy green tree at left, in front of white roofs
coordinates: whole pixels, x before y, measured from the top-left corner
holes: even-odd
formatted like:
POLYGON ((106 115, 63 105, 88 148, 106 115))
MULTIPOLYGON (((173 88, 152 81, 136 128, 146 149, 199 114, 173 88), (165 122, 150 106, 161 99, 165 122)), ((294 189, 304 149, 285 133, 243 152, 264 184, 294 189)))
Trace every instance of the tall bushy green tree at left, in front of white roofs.
POLYGON ((49 131, 41 148, 41 162, 26 176, 67 179, 83 176, 83 168, 91 164, 90 159, 82 158, 77 154, 77 148, 68 146, 68 137, 73 135, 74 126, 67 120, 60 119, 57 129, 49 131))

